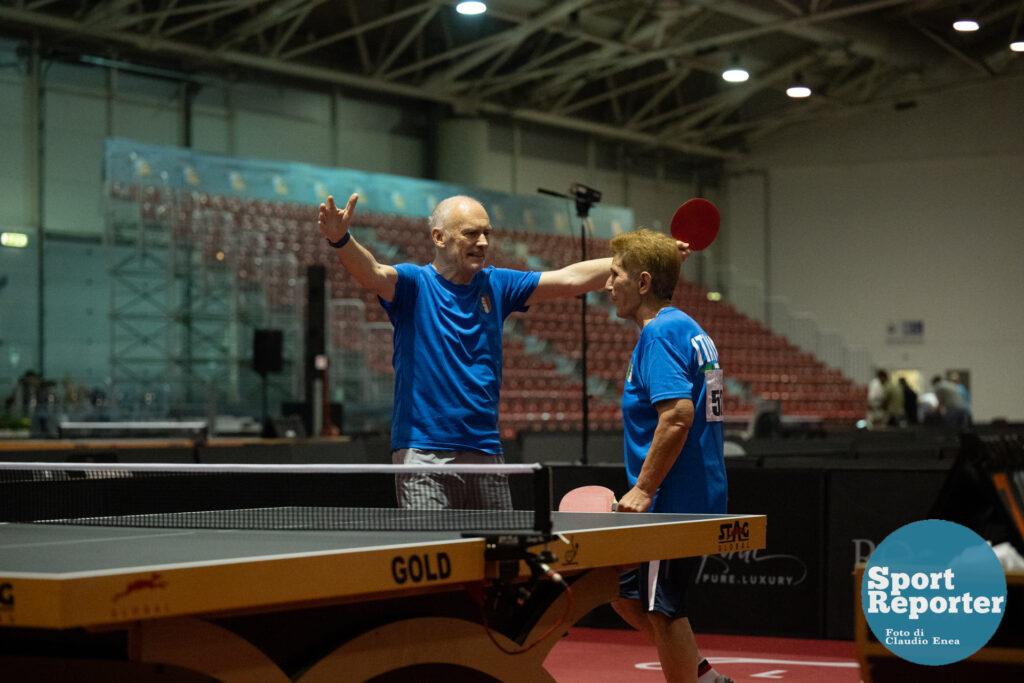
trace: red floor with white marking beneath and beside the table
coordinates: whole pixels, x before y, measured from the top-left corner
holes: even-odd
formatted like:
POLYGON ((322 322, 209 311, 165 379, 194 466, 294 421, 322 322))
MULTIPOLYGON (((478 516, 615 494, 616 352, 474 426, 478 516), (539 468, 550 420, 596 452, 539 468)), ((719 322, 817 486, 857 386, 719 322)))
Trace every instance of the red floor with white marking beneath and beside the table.
MULTIPOLYGON (((736 683, 859 683, 852 642, 697 636, 703 655, 736 683)), ((634 631, 575 628, 545 667, 559 683, 664 681, 654 646, 634 631)))

